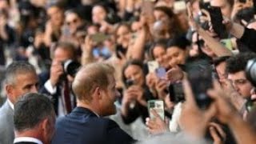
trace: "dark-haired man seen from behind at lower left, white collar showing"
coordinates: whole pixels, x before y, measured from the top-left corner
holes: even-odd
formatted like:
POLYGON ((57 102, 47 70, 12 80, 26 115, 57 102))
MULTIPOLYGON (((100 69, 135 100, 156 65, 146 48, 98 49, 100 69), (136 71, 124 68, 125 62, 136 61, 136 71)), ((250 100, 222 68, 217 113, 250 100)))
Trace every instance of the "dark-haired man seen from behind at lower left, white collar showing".
POLYGON ((14 144, 50 144, 54 125, 54 106, 45 95, 26 94, 15 103, 14 144))

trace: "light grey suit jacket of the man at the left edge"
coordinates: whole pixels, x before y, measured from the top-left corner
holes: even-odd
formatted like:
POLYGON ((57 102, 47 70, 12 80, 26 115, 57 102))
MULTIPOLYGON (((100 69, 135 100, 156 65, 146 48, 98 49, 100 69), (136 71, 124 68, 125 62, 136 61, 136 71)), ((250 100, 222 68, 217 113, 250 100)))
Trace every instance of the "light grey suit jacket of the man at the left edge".
POLYGON ((0 144, 14 143, 14 110, 7 100, 0 108, 0 144))

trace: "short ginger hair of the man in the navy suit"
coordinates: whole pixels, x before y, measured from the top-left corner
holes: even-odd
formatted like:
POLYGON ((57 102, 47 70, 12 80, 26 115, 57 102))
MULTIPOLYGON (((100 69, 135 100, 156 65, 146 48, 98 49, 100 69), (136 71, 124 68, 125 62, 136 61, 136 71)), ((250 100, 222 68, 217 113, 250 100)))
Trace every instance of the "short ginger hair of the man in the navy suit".
POLYGON ((95 62, 82 66, 74 78, 72 90, 78 100, 92 99, 91 94, 96 87, 106 90, 110 84, 109 76, 114 75, 114 67, 104 62, 95 62))

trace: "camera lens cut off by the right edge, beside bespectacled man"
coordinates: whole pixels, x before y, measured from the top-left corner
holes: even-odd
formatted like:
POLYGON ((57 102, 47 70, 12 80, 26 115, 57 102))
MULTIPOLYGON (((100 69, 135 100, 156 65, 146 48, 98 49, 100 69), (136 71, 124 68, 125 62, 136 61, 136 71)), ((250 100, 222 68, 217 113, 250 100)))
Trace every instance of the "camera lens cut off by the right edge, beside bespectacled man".
POLYGON ((250 59, 246 65, 246 77, 256 86, 256 58, 250 59))

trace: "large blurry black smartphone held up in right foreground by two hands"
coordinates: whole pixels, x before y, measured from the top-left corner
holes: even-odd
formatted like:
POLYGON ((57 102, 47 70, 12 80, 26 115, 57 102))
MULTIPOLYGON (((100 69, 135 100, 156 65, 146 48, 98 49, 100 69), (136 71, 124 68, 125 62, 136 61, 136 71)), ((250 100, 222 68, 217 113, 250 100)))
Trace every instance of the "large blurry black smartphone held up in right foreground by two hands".
POLYGON ((186 64, 186 71, 195 102, 202 110, 206 110, 212 99, 207 95, 207 90, 213 87, 212 66, 205 59, 197 59, 186 64))

